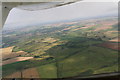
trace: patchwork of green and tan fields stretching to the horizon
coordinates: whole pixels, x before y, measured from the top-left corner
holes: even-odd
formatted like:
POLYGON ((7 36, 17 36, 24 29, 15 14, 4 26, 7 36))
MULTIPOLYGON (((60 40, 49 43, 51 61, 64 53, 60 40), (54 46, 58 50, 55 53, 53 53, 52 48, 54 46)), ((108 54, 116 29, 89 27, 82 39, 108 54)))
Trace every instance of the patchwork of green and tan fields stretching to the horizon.
POLYGON ((63 78, 118 72, 116 20, 49 24, 3 34, 3 77, 63 78))

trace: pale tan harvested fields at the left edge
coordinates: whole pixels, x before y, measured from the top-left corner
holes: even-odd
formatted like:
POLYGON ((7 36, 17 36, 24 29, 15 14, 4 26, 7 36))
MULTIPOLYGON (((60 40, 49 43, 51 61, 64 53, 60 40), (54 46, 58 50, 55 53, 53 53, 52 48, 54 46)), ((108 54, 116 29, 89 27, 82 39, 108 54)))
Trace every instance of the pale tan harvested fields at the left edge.
POLYGON ((27 52, 24 51, 12 52, 13 48, 14 46, 1 49, 2 59, 3 59, 1 65, 11 64, 19 61, 25 61, 33 58, 33 57, 20 57, 21 55, 27 54, 27 52))

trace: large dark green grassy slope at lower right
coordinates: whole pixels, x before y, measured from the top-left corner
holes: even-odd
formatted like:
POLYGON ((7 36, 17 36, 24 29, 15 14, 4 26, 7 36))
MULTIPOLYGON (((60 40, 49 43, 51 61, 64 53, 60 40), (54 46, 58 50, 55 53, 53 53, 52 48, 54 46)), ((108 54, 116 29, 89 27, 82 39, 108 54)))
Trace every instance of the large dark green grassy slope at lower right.
POLYGON ((89 47, 59 62, 61 66, 60 77, 114 72, 117 67, 117 65, 114 65, 117 63, 117 57, 118 53, 116 51, 101 47, 89 47))

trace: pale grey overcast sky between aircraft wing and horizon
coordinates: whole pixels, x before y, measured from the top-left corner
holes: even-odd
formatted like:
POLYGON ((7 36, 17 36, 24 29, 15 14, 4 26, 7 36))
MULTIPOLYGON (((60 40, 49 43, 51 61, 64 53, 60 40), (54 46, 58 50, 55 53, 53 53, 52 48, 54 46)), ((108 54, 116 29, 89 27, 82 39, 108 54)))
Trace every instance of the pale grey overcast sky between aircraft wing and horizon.
POLYGON ((83 0, 61 7, 26 11, 13 8, 5 22, 4 28, 16 28, 36 24, 60 22, 118 14, 118 0, 83 0), (104 2, 106 1, 106 2, 104 2))

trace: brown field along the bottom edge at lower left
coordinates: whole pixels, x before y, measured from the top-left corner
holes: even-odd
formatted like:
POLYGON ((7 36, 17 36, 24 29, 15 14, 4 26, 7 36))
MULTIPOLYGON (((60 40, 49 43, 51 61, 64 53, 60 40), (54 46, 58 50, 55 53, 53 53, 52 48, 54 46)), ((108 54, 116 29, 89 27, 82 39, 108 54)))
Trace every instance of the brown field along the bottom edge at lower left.
POLYGON ((29 68, 19 72, 15 72, 5 78, 40 78, 36 68, 29 68))

